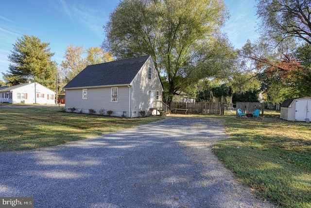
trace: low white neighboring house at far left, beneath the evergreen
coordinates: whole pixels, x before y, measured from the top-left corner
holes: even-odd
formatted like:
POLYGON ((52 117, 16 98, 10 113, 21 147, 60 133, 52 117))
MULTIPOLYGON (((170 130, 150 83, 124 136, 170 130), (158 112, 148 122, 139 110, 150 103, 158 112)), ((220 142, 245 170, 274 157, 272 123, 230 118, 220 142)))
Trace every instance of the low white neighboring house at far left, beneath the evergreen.
POLYGON ((55 104, 55 93, 33 82, 0 89, 0 103, 55 104))

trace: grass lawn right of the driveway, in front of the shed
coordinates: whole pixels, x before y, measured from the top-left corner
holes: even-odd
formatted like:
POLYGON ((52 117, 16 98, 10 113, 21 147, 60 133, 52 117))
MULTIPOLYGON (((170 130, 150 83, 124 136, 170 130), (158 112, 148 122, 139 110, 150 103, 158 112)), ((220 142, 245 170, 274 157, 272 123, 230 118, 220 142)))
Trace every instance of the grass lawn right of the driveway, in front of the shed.
POLYGON ((238 180, 284 208, 311 208, 311 124, 264 117, 224 118, 229 138, 213 151, 238 180))

